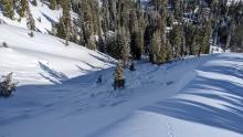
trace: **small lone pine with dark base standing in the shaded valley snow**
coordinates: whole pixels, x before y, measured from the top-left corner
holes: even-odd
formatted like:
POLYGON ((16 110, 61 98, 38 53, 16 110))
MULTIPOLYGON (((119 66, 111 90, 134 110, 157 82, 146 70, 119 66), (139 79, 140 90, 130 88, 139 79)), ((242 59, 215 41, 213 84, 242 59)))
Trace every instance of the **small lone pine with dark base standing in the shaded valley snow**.
POLYGON ((124 65, 118 62, 115 70, 114 89, 125 87, 124 65))

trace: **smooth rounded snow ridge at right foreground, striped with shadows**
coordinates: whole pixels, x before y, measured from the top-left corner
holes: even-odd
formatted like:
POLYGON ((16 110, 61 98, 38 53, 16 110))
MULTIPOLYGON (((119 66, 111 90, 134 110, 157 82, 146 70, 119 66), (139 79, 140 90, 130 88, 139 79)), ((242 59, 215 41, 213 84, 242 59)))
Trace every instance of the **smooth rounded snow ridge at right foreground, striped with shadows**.
POLYGON ((243 54, 210 56, 175 96, 135 110, 101 133, 96 136, 243 137, 243 54))

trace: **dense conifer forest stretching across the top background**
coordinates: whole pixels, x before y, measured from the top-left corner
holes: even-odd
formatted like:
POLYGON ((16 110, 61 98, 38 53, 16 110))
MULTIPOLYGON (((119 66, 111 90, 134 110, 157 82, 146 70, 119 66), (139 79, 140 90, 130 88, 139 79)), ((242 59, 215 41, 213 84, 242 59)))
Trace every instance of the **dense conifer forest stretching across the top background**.
MULTIPOLYGON (((14 9, 28 18, 35 30, 29 2, 1 0, 3 15, 14 19, 14 9)), ((209 53, 211 45, 242 50, 243 3, 228 0, 41 0, 50 9, 62 8, 63 15, 53 24, 54 35, 115 59, 140 60, 161 64, 184 55, 209 53), (71 19, 71 10, 78 19, 71 19)))

